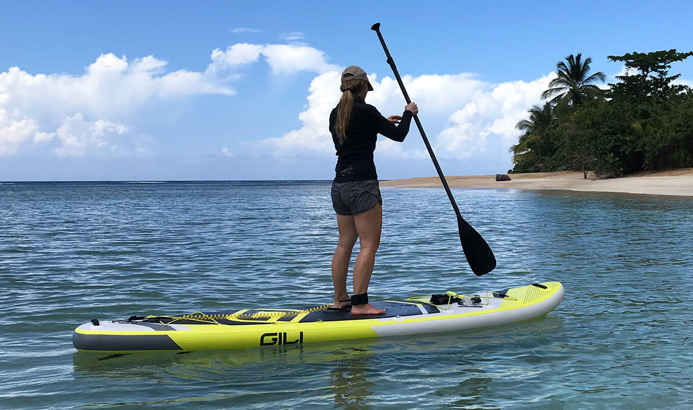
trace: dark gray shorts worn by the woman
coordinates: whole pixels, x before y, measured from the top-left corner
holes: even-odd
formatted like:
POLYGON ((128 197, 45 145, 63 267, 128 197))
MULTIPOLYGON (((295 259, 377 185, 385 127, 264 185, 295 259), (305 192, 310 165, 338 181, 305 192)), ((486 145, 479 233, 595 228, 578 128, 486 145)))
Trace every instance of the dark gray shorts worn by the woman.
POLYGON ((377 179, 333 182, 332 207, 339 215, 358 215, 383 204, 377 179))

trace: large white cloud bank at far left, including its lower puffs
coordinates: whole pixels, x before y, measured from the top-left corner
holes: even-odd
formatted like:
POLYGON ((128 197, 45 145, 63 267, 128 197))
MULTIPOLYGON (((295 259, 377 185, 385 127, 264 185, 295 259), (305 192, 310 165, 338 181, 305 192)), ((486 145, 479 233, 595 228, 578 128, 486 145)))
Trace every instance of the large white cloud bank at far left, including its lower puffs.
POLYGON ((143 154, 139 144, 148 138, 132 137, 123 122, 152 100, 198 93, 234 91, 208 73, 166 73, 166 62, 151 55, 132 62, 100 55, 83 75, 31 75, 12 67, 0 73, 0 155, 16 154, 31 139, 57 141, 61 155, 103 154, 106 147, 119 156, 143 154))

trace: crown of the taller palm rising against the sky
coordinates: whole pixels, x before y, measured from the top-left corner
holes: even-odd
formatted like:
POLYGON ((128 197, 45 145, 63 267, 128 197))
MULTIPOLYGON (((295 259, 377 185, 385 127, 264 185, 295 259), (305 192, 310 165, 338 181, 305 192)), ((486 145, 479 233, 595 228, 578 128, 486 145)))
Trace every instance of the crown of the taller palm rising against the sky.
POLYGON ((602 71, 588 75, 590 71, 590 63, 592 57, 587 57, 584 62, 581 61, 582 53, 577 56, 568 55, 565 57, 565 62, 559 61, 556 64, 558 76, 551 80, 549 89, 541 94, 543 100, 555 96, 549 103, 558 105, 579 105, 588 100, 593 100, 599 94, 599 87, 592 82, 604 82, 606 76, 602 71))

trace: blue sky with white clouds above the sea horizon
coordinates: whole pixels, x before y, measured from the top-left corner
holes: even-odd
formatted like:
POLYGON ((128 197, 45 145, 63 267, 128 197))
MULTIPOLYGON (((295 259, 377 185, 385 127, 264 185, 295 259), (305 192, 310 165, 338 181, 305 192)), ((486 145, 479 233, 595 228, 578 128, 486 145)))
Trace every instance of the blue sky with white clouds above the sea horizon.
MULTIPOLYGON (((608 55, 693 50, 693 3, 653 4, 0 0, 0 181, 332 179, 342 69, 405 105, 376 22, 446 175, 505 173, 567 55, 614 82, 608 55)), ((693 84, 693 59, 672 73, 693 84)), ((375 159, 436 175, 413 123, 375 159)))

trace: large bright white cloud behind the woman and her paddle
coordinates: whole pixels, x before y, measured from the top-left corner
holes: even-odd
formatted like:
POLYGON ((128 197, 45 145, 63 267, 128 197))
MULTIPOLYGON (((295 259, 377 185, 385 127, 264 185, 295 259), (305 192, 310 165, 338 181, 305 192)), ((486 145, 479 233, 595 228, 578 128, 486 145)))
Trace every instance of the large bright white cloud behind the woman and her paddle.
MULTIPOLYGON (((547 87, 553 73, 532 82, 514 81, 491 84, 476 78, 472 73, 457 75, 405 75, 403 82, 410 96, 419 105, 428 129, 443 129, 431 143, 442 158, 465 159, 476 152, 491 148, 505 154, 519 135, 515 124, 525 118, 527 109, 541 103, 541 92, 547 87), (448 118, 447 124, 444 118, 448 118), (437 127, 436 127, 437 125, 437 127), (501 137, 507 146, 488 147, 486 139, 491 134, 501 137)), ((328 131, 328 118, 340 98, 340 73, 329 71, 318 75, 310 84, 308 107, 299 114, 303 127, 281 137, 263 140, 276 156, 292 156, 313 152, 323 157, 334 154, 328 131)), ((378 82, 369 75, 374 91, 369 92, 367 102, 378 107, 385 116, 400 114, 405 102, 396 80, 385 77, 378 82)), ((410 135, 416 134, 412 121, 410 135)), ((405 144, 381 138, 378 154, 402 159, 427 158, 423 148, 405 149, 405 144)), ((418 143, 416 143, 418 145, 418 143)), ((421 147, 421 145, 418 145, 421 147)))

